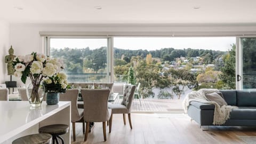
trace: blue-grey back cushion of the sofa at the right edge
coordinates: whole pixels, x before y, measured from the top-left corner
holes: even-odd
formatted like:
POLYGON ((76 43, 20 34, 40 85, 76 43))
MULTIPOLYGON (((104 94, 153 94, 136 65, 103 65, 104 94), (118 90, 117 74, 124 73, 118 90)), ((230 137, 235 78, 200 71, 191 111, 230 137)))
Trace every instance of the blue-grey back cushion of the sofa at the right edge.
POLYGON ((238 107, 256 107, 256 91, 237 91, 238 107))

